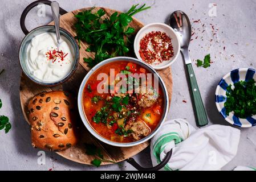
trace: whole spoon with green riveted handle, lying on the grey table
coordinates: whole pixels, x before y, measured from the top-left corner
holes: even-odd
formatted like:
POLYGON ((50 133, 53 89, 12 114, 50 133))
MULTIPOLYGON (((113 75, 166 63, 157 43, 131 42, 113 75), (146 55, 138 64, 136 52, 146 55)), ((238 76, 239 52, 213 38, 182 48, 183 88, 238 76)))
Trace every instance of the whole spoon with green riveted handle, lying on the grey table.
POLYGON ((194 109, 196 110, 197 115, 197 125, 205 126, 208 124, 208 118, 205 112, 204 104, 202 102, 200 91, 198 89, 196 76, 194 75, 192 62, 188 52, 191 39, 191 25, 189 18, 183 11, 174 11, 170 15, 169 25, 177 32, 180 38, 181 53, 189 73, 190 89, 194 100, 194 109))

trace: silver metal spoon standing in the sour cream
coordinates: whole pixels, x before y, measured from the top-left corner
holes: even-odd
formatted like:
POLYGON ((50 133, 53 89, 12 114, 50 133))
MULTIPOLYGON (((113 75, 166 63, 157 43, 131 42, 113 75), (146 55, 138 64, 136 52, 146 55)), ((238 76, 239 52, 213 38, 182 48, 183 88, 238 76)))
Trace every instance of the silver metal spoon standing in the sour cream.
POLYGON ((59 40, 60 40, 60 32, 59 32, 59 3, 56 1, 51 2, 51 12, 52 18, 54 18, 54 25, 56 31, 57 38, 57 48, 59 51, 59 40))

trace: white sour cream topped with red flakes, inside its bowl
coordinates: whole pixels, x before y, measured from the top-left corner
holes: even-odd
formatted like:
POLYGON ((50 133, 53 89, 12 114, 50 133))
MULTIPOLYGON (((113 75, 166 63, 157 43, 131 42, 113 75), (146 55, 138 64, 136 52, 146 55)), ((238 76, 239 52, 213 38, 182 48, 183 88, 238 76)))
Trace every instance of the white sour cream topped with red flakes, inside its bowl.
POLYGON ((27 66, 31 75, 43 82, 62 80, 74 66, 75 56, 70 41, 60 35, 59 53, 53 32, 36 35, 27 47, 27 66))

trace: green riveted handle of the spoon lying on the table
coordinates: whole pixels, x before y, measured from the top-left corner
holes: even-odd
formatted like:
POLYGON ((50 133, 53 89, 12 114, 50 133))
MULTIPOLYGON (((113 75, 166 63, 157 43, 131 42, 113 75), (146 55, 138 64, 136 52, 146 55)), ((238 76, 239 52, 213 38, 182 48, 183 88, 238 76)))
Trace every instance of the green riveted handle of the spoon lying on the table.
POLYGON ((205 126, 208 124, 208 118, 205 112, 205 107, 202 102, 201 94, 197 85, 196 76, 194 75, 192 64, 186 64, 189 73, 189 80, 191 86, 191 92, 194 100, 194 108, 196 110, 197 115, 197 125, 205 126))

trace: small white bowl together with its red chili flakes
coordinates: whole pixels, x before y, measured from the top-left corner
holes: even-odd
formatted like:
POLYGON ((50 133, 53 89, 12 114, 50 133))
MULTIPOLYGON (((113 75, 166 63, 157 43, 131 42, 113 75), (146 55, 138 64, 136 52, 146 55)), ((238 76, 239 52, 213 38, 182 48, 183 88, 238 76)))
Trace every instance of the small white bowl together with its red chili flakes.
POLYGON ((180 53, 178 35, 164 23, 151 23, 141 28, 133 46, 137 58, 157 70, 169 67, 180 53))

